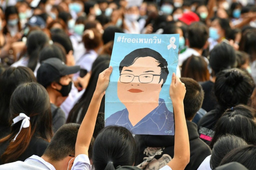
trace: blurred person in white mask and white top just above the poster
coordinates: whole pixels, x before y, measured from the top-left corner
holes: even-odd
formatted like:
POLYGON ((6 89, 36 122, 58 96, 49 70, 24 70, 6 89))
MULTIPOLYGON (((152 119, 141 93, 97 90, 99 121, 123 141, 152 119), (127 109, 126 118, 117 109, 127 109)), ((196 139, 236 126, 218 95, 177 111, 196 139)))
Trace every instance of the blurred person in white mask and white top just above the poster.
POLYGON ((130 34, 139 34, 140 28, 139 28, 139 9, 137 6, 129 7, 125 11, 125 23, 127 25, 127 28, 124 29, 125 33, 130 34))

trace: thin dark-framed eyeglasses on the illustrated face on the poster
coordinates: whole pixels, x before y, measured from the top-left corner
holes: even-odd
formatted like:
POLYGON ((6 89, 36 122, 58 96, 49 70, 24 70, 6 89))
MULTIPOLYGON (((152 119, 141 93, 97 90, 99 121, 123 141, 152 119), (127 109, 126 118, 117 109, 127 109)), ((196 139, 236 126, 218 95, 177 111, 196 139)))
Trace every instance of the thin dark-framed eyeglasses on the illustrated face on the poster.
POLYGON ((160 76, 158 74, 142 74, 139 76, 134 76, 133 74, 120 74, 120 82, 121 83, 130 83, 133 81, 134 77, 139 78, 140 83, 151 83, 153 81, 154 76, 160 76))

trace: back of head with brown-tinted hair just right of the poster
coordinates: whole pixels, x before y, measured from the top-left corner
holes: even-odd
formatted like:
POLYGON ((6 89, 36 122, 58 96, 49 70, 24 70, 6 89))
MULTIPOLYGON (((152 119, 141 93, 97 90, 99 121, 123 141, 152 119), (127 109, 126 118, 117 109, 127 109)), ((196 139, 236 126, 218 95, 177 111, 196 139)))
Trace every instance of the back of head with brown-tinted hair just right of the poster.
POLYGON ((207 68, 207 62, 202 56, 192 55, 183 62, 181 76, 193 78, 197 82, 209 80, 210 73, 207 68))

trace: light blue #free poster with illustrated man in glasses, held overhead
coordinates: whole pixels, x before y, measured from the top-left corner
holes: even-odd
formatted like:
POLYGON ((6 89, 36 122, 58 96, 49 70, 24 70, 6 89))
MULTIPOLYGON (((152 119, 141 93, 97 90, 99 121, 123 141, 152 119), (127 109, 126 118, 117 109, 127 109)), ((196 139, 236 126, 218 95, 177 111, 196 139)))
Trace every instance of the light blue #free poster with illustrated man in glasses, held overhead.
POLYGON ((105 126, 123 126, 133 134, 174 135, 169 88, 178 44, 179 34, 115 33, 105 126))

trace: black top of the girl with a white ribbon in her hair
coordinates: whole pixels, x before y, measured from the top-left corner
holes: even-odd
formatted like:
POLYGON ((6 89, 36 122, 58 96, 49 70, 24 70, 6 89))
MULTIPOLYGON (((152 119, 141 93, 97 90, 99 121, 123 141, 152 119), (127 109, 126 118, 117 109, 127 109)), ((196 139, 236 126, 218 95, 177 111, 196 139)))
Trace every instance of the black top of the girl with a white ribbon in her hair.
MULTIPOLYGON (((0 144, 0 155, 2 155, 7 146, 9 145, 9 142, 4 142, 0 144)), ((37 155, 37 156, 42 156, 43 153, 45 152, 47 146, 49 145, 49 142, 45 141, 44 139, 40 137, 32 137, 29 146, 25 150, 21 156, 19 156, 18 159, 15 161, 25 161, 27 158, 29 158, 32 155, 37 155)), ((3 164, 1 159, 0 159, 0 164, 3 164)))

